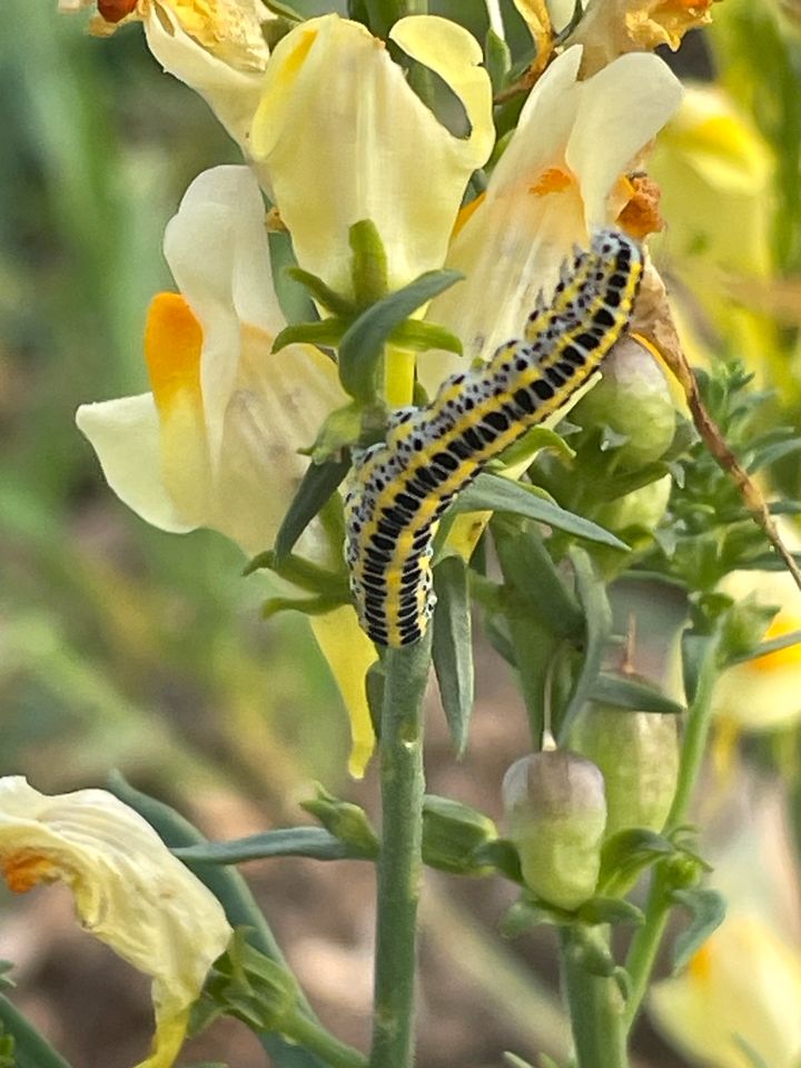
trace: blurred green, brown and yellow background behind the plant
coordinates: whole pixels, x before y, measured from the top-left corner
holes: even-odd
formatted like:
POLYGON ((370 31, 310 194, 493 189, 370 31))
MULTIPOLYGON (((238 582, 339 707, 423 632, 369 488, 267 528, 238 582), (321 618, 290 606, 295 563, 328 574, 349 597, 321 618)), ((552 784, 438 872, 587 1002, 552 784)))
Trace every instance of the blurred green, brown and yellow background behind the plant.
MULTIPOLYGON (((483 39, 483 4, 457 7, 483 39)), ((801 50, 787 14, 768 0, 750 7, 715 4, 715 37, 691 33, 669 57, 683 76, 713 78, 716 88, 699 102, 702 118, 676 122, 660 148, 671 224, 660 256, 686 296, 693 355, 743 356, 795 418, 801 50), (715 107, 734 123, 729 140, 703 128, 715 107), (721 263, 748 283, 729 286, 724 299, 721 263)), ((502 9, 520 37, 511 4, 502 9)), ((117 767, 215 839, 303 822, 297 801, 315 779, 375 811, 373 773, 364 783, 346 779, 345 713, 305 621, 261 622, 266 582, 240 577, 244 561, 221 536, 165 534, 130 513, 73 423, 80 403, 147 388, 145 310, 171 287, 164 226, 190 180, 237 161, 236 148, 202 101, 160 72, 139 27, 95 40, 80 18, 57 13, 56 0, 3 2, 0 129, 2 772, 57 792, 101 785, 117 767)), ((797 471, 783 472, 793 494, 797 471)), ((500 818, 498 783, 526 750, 525 718, 504 665, 483 646, 477 680, 471 750, 458 765, 432 699, 429 789, 500 818)), ((790 777, 797 734, 789 718, 769 742, 753 743, 756 761, 774 769, 778 752, 790 777), (759 755, 765 746, 770 759, 759 755)), ((751 779, 740 783, 742 797, 751 779)), ((781 798, 754 789, 745 821, 781 822, 781 798)), ((785 860, 777 863, 783 871, 785 860)), ((347 894, 339 864, 281 860, 246 874, 324 1019, 364 1044, 369 867, 348 867, 347 894)), ((551 937, 514 946, 497 938, 511 894, 429 879, 425 1068, 495 1068, 503 1049, 564 1049, 551 937)), ((147 983, 81 934, 61 888, 19 900, 0 892, 0 957, 17 965, 16 1003, 75 1068, 126 1068, 144 1056, 147 983)), ((639 1049, 641 1068, 688 1064, 647 1024, 639 1049)), ((226 1022, 182 1058, 200 1060, 265 1062, 253 1037, 226 1022)))

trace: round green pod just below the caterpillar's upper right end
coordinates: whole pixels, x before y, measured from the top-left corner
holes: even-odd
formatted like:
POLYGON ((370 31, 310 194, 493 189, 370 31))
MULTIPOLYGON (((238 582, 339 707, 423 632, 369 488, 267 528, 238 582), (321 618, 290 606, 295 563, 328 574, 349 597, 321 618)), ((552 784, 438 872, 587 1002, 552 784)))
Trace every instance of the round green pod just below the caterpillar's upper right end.
POLYGON ((570 418, 585 428, 607 428, 607 438, 614 438, 610 456, 616 471, 639 471, 659 459, 675 433, 668 379, 651 353, 632 338, 612 349, 601 382, 570 418))

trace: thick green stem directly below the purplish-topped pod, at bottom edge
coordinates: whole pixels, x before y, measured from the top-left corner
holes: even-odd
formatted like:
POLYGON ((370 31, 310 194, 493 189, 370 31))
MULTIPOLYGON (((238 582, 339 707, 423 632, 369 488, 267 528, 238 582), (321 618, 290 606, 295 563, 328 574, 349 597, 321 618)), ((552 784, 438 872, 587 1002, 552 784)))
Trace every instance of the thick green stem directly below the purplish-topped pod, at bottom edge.
POLYGON ((623 995, 614 978, 587 969, 587 938, 602 939, 609 952, 609 936, 600 931, 563 928, 562 977, 570 1006, 576 1068, 629 1068, 623 1026, 623 995))

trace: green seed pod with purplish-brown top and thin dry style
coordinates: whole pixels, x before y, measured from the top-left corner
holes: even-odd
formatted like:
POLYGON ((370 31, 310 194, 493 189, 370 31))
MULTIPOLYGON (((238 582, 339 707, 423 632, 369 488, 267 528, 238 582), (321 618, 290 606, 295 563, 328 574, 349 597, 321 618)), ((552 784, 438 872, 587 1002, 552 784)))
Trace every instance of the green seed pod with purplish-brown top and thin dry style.
POLYGON ((568 750, 534 753, 506 772, 503 799, 526 886, 550 904, 577 909, 595 892, 601 867, 601 771, 568 750))

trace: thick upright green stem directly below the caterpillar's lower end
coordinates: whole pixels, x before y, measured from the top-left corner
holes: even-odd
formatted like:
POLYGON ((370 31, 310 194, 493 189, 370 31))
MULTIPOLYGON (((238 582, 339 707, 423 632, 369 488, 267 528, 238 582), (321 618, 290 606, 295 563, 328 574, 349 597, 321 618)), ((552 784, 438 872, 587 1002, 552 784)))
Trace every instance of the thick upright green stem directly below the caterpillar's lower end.
POLYGON ((423 696, 431 630, 423 641, 387 650, 380 721, 382 847, 370 1068, 411 1068, 423 871, 423 696))

